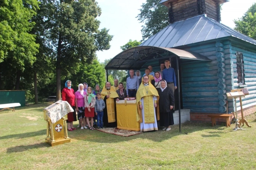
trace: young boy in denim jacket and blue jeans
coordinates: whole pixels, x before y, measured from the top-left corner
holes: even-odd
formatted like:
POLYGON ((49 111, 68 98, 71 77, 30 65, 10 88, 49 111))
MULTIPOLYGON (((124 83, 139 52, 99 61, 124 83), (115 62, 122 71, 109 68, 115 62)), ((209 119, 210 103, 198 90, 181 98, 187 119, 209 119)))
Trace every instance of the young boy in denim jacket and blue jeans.
POLYGON ((97 99, 95 102, 95 114, 97 115, 98 129, 103 128, 103 109, 105 108, 105 102, 101 99, 101 93, 97 92, 97 99))

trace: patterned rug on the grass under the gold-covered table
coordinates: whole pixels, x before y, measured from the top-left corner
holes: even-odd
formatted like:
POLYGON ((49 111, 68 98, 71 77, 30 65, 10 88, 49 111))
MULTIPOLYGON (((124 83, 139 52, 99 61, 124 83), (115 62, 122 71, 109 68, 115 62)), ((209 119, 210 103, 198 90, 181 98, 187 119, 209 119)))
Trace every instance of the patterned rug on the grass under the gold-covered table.
POLYGON ((97 129, 97 130, 108 133, 108 134, 114 134, 114 135, 125 136, 125 137, 138 135, 142 133, 139 131, 124 130, 124 129, 118 129, 118 128, 105 128, 105 129, 97 129))

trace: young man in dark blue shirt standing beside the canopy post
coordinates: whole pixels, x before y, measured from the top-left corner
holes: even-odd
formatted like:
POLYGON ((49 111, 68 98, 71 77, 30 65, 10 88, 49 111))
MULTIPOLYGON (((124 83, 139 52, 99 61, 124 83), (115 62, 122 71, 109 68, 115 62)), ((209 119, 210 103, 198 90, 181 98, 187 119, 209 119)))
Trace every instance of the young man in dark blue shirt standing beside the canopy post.
POLYGON ((168 60, 165 61, 165 67, 166 68, 162 71, 162 79, 167 82, 167 86, 174 92, 174 90, 177 89, 174 68, 170 67, 170 61, 168 60))

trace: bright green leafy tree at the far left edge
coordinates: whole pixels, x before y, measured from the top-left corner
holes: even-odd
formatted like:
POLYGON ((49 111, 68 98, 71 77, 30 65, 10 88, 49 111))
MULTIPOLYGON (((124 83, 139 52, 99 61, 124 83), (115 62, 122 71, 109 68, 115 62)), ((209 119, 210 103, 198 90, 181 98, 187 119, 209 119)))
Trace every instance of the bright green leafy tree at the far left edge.
POLYGON ((25 67, 32 66, 38 52, 35 36, 31 34, 37 0, 0 2, 0 88, 20 89, 25 67), (14 87, 15 86, 15 87, 14 87))

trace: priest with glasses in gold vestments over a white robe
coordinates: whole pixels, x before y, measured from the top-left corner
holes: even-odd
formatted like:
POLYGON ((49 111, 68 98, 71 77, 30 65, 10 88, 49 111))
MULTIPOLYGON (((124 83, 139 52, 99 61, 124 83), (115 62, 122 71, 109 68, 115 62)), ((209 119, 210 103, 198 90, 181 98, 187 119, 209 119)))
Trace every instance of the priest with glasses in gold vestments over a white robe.
POLYGON ((140 131, 158 130, 159 120, 158 100, 159 95, 155 87, 149 82, 149 77, 143 77, 136 94, 137 100, 137 121, 140 123, 140 131), (156 108, 156 109, 155 109, 156 108))

